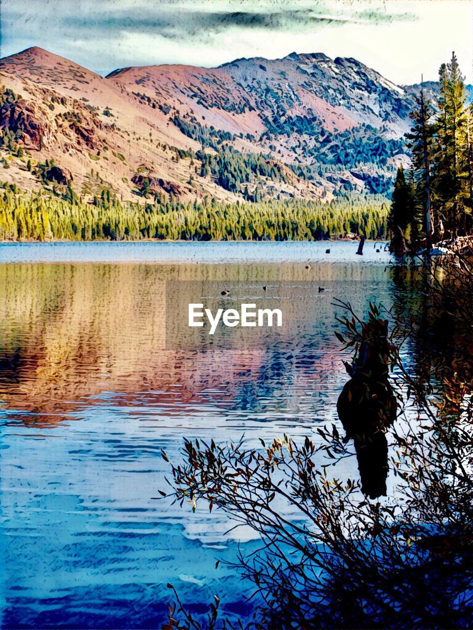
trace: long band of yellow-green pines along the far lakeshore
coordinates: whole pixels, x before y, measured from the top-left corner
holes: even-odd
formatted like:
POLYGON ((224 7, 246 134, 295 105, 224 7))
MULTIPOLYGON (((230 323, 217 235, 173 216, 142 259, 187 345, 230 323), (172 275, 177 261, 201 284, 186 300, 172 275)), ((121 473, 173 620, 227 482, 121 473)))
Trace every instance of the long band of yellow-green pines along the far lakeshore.
POLYGON ((3 184, 0 192, 0 239, 6 241, 314 241, 339 238, 347 232, 385 238, 383 198, 143 205, 120 202, 105 189, 93 202, 85 203, 70 185, 62 197, 21 192, 9 184, 3 184))

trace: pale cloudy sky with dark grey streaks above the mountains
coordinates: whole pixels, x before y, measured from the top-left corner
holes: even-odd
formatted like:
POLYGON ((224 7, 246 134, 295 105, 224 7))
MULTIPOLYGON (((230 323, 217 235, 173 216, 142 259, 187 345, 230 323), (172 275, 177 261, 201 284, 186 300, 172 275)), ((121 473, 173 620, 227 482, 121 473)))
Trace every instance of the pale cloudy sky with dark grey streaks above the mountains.
POLYGON ((395 83, 436 79, 455 50, 471 83, 473 0, 1 0, 1 56, 30 46, 100 74, 324 52, 395 83))

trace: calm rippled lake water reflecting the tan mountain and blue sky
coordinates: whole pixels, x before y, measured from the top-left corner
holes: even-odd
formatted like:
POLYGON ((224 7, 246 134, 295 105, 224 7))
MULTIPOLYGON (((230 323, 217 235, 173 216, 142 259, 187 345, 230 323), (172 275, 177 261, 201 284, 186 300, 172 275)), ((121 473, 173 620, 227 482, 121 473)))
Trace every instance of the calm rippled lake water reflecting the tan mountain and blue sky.
MULTIPOLYGON (((156 500, 160 452, 177 460, 184 436, 317 440, 325 422, 340 424, 347 356, 332 302, 388 309, 399 291, 383 248, 356 248, 0 244, 3 627, 158 628, 168 582, 195 610, 216 593, 227 612, 251 610, 251 585, 215 563, 238 544, 257 548, 253 532, 156 500), (227 307, 279 300, 284 326, 190 343, 169 287, 216 304, 231 287, 227 307)), ((344 467, 357 475, 356 460, 344 467)))

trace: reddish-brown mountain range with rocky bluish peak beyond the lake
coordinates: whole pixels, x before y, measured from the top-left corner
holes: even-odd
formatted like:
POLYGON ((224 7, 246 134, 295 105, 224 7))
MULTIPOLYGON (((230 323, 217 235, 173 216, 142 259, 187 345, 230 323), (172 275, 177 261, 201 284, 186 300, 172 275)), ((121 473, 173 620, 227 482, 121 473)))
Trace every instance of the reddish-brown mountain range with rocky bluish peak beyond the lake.
POLYGON ((414 88, 356 59, 291 53, 102 77, 40 48, 0 60, 2 180, 124 199, 386 193, 414 88))

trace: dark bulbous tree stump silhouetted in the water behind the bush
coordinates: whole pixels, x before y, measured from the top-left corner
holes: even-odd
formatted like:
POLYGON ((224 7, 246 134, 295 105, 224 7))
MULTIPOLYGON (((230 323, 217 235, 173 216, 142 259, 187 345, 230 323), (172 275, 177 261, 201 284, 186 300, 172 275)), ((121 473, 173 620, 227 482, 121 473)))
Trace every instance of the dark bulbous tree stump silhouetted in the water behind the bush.
POLYGON ((337 401, 337 413, 353 439, 361 490, 375 499, 386 495, 388 445, 386 428, 396 417, 397 402, 388 379, 388 323, 375 319, 362 329, 363 340, 352 364, 351 379, 337 401))

